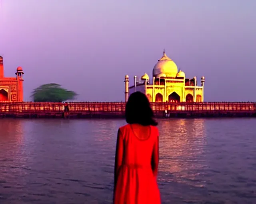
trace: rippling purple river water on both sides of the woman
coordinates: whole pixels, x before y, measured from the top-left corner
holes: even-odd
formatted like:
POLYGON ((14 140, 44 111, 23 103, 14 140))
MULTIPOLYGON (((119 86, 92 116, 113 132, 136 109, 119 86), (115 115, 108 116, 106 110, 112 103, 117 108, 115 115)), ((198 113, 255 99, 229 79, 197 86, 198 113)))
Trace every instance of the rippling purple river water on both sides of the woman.
MULTIPOLYGON (((0 120, 0 204, 111 203, 124 120, 0 120)), ((256 119, 159 120, 162 203, 255 204, 256 119)))

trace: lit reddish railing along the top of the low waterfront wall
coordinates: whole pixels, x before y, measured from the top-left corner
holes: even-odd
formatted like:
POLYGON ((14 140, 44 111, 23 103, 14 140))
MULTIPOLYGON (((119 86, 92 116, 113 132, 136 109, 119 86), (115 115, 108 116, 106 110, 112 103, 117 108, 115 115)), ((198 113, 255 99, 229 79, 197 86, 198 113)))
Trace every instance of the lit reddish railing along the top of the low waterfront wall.
MULTIPOLYGON (((255 102, 205 102, 205 103, 151 103, 154 112, 256 112, 255 102)), ((124 102, 71 102, 70 112, 124 112, 124 102)), ((0 113, 62 113, 63 103, 52 102, 2 102, 0 113)))

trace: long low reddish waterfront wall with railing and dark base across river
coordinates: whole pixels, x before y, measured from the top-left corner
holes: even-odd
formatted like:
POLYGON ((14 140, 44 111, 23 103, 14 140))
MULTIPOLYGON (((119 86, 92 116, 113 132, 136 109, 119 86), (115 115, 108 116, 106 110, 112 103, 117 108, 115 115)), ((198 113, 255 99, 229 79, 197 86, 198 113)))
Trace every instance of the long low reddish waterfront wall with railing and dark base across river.
MULTIPOLYGON (((156 118, 164 117, 166 110, 171 118, 201 117, 254 117, 255 102, 204 102, 204 103, 151 103, 156 118)), ((64 103, 53 102, 2 102, 0 117, 11 118, 124 118, 124 102, 71 102, 68 111, 64 103), (64 113, 65 112, 65 113, 64 113)))

